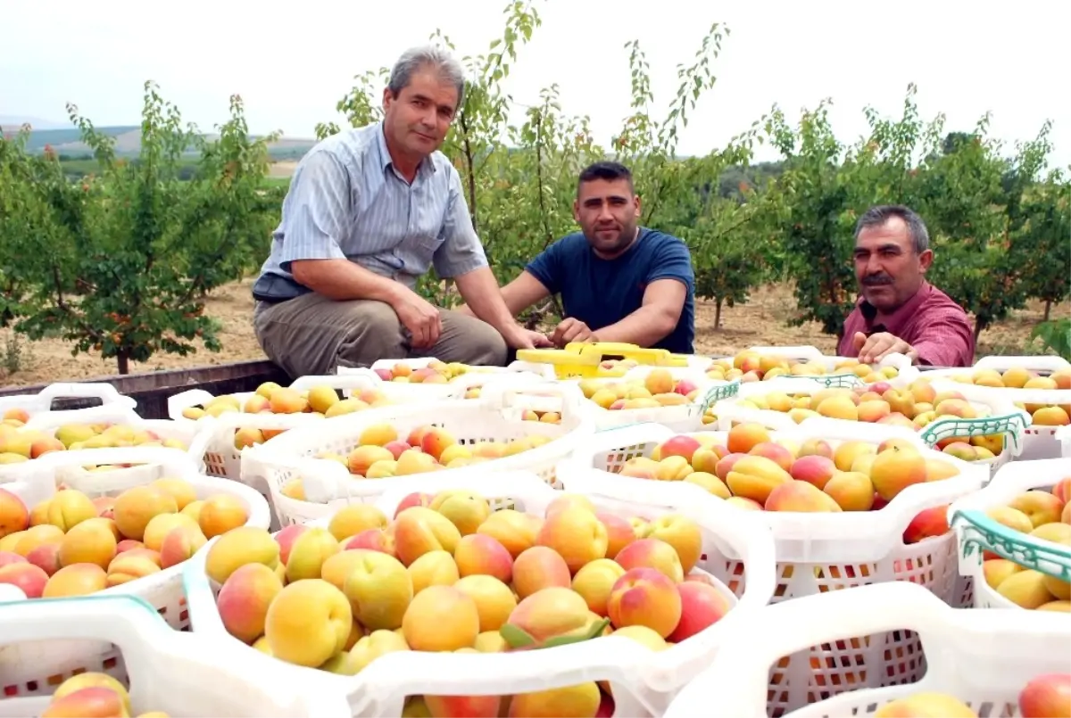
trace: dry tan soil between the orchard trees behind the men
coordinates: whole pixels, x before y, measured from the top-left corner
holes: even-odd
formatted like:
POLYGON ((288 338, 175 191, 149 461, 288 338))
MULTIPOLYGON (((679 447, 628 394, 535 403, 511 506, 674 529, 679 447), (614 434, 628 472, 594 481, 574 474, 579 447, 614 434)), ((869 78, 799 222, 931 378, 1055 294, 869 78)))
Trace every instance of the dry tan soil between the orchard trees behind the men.
MULTIPOLYGON (((160 354, 145 364, 131 364, 131 373, 160 371, 193 366, 206 366, 265 358, 253 334, 252 279, 223 287, 209 297, 206 314, 223 322, 223 351, 199 350, 187 357, 160 354)), ((1030 330, 1041 321, 1042 305, 1032 303, 1006 322, 982 333, 978 356, 986 354, 1021 354, 1028 342, 1030 330)), ((757 290, 751 301, 722 309, 722 326, 714 331, 714 306, 696 305, 696 353, 731 354, 748 347, 795 347, 811 345, 826 354, 835 351, 832 336, 821 334, 816 324, 788 326, 795 315, 795 301, 787 286, 769 286, 757 290)), ((1053 318, 1071 317, 1071 305, 1053 308, 1053 318)), ((71 345, 58 339, 26 341, 19 338, 19 369, 9 371, 12 342, 10 330, 0 331, 0 385, 26 385, 72 379, 88 379, 116 373, 115 360, 104 361, 94 354, 71 355, 71 345)), ((1037 353, 1035 350, 1032 353, 1037 353)))

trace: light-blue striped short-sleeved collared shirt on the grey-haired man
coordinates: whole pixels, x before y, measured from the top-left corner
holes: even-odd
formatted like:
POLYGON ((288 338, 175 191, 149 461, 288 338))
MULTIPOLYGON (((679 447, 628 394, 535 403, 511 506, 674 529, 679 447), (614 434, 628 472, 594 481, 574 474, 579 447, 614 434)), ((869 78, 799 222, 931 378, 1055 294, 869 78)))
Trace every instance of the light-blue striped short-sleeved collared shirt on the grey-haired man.
POLYGON ((487 265, 450 159, 433 153, 410 184, 391 162, 381 122, 333 135, 302 157, 254 296, 311 291, 289 271, 302 259, 348 259, 410 289, 432 265, 444 278, 487 265))

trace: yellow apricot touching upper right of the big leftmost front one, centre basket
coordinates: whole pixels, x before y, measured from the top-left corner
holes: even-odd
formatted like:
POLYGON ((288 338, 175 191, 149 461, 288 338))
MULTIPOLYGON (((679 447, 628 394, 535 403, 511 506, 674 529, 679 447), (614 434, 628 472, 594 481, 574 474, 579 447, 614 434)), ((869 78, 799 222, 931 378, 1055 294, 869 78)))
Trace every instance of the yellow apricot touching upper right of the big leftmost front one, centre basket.
POLYGON ((347 553, 360 554, 360 561, 349 567, 343 586, 353 617, 372 630, 399 628, 413 599, 412 579, 406 567, 378 551, 358 549, 347 553))

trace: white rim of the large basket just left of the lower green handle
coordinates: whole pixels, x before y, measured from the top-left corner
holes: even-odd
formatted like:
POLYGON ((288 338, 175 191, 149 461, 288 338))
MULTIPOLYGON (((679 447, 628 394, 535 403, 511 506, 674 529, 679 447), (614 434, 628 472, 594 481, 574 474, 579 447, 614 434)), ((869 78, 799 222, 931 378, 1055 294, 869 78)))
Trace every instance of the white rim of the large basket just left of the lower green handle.
MULTIPOLYGON (((559 479, 569 491, 582 490, 595 495, 624 491, 630 495, 643 497, 645 502, 667 502, 670 495, 667 492, 676 491, 682 484, 688 486, 687 483, 621 476, 595 464, 597 457, 601 455, 625 446, 638 447, 648 444, 653 448, 675 433, 664 427, 651 425, 637 425, 617 431, 597 433, 585 442, 583 452, 575 452, 572 457, 558 464, 559 479), (645 439, 645 437, 650 438, 645 439)), ((796 442, 813 438, 825 439, 832 446, 844 441, 880 444, 887 439, 904 439, 914 443, 924 457, 945 460, 959 469, 960 474, 940 482, 909 486, 877 511, 797 514, 739 509, 742 520, 761 523, 773 532, 776 559, 782 563, 842 565, 878 562, 888 556, 893 546, 901 545, 904 530, 920 511, 950 504, 961 497, 978 491, 989 480, 987 467, 931 449, 918 434, 901 427, 878 429, 873 425, 854 422, 809 419, 795 430, 771 434, 773 440, 788 439, 796 442)), ((689 488, 698 487, 689 486, 689 488)), ((680 497, 679 493, 676 495, 680 497)), ((713 495, 711 498, 718 503, 724 503, 722 499, 713 495)), ((737 510, 735 507, 726 507, 737 510)))

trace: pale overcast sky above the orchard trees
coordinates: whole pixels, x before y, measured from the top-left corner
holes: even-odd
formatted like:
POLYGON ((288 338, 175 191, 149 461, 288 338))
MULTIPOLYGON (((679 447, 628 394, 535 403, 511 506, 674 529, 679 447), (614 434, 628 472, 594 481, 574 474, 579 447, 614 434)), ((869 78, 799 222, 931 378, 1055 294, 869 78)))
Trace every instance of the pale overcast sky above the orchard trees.
MULTIPOLYGON (((655 97, 670 100, 711 22, 728 26, 715 73, 680 151, 720 147, 774 103, 796 117, 834 102, 842 139, 865 131, 862 109, 899 113, 908 82, 923 117, 969 129, 985 111, 1009 144, 1055 122, 1054 162, 1071 164, 1071 50, 1067 3, 1019 0, 537 0, 543 26, 509 88, 534 103, 557 82, 564 108, 591 117, 600 141, 629 109, 627 41, 649 57, 655 97), (1061 9, 1062 6, 1062 9, 1061 9)), ((97 125, 135 124, 141 83, 156 80, 187 120, 208 129, 227 97, 245 100, 254 132, 311 137, 364 70, 391 64, 441 28, 480 54, 502 29, 504 0, 0 0, 0 114, 65 119, 75 102, 97 125), (391 7, 391 10, 386 10, 391 7), (150 10, 152 9, 152 10, 150 10), (464 9, 464 10, 463 10, 464 9), (464 16, 463 13, 464 12, 464 16)), ((764 153, 766 154, 766 153, 764 153)))

